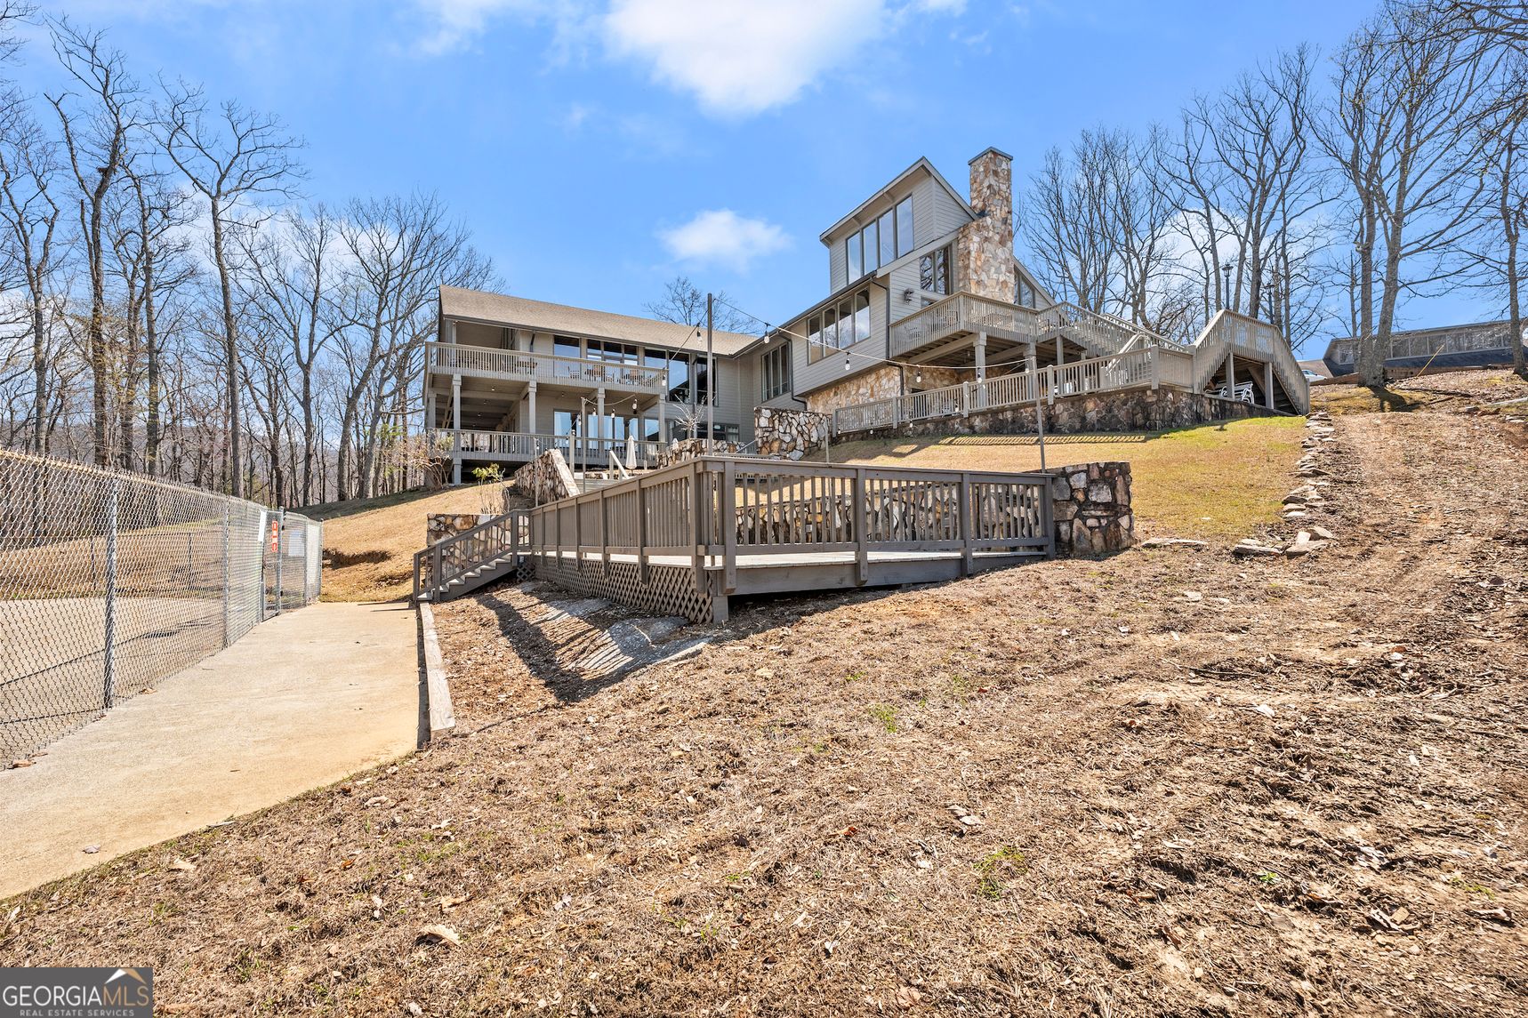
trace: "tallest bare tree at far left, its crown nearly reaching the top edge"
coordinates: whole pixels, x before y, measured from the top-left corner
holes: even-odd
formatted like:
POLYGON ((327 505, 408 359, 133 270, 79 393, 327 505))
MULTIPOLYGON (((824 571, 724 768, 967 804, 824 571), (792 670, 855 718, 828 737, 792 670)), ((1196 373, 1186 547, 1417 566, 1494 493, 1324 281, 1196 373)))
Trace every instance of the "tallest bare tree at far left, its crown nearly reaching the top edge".
POLYGON ((79 190, 79 232, 90 272, 90 321, 86 332, 93 391, 95 462, 108 462, 105 339, 107 196, 127 157, 127 139, 138 122, 139 92, 124 69, 122 53, 101 32, 76 28, 69 18, 49 21, 58 63, 83 95, 58 92, 47 101, 58 115, 64 151, 79 190))

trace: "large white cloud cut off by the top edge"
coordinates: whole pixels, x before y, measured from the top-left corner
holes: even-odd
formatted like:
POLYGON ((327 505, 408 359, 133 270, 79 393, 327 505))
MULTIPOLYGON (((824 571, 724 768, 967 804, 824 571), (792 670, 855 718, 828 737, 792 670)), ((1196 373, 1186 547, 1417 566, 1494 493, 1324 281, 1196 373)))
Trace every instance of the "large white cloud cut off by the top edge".
POLYGON ((715 113, 759 113, 795 99, 874 34, 883 0, 614 0, 613 53, 692 92, 715 113))

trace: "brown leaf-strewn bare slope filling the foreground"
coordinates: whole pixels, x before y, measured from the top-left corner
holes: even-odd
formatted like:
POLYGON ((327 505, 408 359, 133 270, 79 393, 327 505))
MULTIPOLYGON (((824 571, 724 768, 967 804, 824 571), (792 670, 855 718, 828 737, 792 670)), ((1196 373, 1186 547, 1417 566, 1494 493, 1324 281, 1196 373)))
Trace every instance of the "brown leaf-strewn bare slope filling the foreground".
POLYGON ((9 902, 0 963, 197 1015, 1522 1013, 1528 434, 1331 437, 1302 558, 759 599, 597 676, 617 608, 442 605, 457 737, 9 902))

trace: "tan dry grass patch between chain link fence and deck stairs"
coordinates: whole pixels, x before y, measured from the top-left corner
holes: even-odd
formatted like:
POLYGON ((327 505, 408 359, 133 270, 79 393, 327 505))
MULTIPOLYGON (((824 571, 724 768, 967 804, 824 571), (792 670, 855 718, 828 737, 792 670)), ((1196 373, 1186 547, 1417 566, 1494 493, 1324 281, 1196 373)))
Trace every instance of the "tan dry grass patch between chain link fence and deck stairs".
POLYGON ((411 491, 304 509, 324 521, 324 601, 393 601, 413 584, 431 512, 503 512, 501 483, 411 491))

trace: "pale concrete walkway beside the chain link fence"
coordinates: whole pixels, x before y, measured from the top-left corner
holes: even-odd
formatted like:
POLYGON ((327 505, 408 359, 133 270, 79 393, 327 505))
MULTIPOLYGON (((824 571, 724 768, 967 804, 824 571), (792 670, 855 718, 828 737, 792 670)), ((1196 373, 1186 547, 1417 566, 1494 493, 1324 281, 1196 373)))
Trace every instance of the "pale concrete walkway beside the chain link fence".
POLYGON ((0 899, 406 754, 419 725, 408 605, 263 622, 0 772, 0 899))

